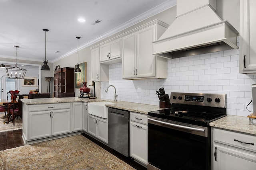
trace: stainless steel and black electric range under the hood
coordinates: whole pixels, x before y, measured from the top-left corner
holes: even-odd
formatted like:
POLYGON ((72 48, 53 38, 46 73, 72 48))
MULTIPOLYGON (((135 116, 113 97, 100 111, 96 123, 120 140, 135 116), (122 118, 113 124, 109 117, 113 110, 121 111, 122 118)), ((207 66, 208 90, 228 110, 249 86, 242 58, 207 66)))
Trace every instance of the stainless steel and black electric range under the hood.
POLYGON ((210 170, 209 123, 226 116, 225 94, 171 93, 148 112, 148 170, 210 170))

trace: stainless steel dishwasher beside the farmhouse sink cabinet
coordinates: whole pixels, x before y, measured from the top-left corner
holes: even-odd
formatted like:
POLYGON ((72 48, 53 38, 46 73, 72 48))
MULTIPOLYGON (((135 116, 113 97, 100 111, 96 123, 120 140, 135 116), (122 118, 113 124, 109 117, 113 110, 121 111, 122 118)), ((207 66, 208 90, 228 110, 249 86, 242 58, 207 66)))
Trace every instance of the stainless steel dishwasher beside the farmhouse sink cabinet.
POLYGON ((130 111, 108 108, 108 147, 130 156, 130 111))

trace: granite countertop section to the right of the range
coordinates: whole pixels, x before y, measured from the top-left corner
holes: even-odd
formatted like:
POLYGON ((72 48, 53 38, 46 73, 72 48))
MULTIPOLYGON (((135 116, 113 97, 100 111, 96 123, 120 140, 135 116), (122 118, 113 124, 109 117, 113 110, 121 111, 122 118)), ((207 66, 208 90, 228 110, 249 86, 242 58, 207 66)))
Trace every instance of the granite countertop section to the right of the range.
POLYGON ((256 125, 250 125, 249 118, 243 116, 227 115, 211 122, 210 126, 256 135, 256 125))

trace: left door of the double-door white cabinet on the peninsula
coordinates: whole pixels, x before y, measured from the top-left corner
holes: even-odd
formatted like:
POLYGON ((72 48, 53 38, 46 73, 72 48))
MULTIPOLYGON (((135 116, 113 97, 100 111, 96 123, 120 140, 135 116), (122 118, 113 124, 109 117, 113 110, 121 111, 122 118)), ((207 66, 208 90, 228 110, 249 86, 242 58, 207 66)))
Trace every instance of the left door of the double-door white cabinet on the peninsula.
POLYGON ((28 113, 28 140, 50 137, 52 135, 51 111, 28 113))

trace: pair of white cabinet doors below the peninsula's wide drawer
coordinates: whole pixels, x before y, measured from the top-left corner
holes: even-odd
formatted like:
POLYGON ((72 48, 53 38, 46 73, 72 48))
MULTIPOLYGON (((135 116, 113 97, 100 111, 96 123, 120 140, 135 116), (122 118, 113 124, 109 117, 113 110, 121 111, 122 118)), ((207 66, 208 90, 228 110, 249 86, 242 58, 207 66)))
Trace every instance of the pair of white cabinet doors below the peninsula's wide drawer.
POLYGON ((70 109, 28 113, 28 140, 70 133, 70 109))

